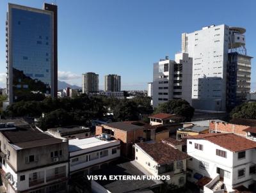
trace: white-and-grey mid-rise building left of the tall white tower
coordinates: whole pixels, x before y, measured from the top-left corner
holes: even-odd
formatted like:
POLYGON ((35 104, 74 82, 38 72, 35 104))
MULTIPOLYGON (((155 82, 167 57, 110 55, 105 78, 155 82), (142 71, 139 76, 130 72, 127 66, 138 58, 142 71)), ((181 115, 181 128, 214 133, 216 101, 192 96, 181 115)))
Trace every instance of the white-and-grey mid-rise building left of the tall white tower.
POLYGON ((154 63, 153 107, 168 100, 182 98, 191 104, 192 58, 175 54, 175 61, 161 59, 154 63))

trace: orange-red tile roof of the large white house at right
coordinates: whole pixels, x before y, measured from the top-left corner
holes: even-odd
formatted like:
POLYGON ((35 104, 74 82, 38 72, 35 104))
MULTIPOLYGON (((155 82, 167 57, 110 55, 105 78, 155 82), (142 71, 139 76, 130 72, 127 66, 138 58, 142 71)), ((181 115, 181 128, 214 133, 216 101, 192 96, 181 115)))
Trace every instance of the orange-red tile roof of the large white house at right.
POLYGON ((256 142, 236 134, 199 134, 188 139, 205 139, 227 150, 237 152, 256 148, 256 142))

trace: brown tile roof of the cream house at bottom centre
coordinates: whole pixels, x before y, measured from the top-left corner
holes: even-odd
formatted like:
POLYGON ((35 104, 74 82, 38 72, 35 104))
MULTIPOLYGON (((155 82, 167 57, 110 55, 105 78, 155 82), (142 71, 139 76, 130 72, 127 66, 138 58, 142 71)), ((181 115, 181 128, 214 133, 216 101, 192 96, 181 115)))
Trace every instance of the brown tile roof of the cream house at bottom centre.
POLYGON ((162 142, 137 143, 140 148, 152 157, 157 164, 167 164, 169 162, 188 159, 189 156, 182 151, 172 148, 162 142))

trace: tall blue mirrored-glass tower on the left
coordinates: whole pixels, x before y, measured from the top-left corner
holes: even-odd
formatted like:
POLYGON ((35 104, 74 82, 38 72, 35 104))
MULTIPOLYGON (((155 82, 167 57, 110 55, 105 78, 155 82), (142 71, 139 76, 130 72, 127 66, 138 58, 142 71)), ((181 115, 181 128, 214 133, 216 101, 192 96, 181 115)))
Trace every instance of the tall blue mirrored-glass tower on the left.
POLYGON ((31 92, 56 97, 58 89, 57 6, 44 9, 8 4, 6 91, 8 103, 31 92))

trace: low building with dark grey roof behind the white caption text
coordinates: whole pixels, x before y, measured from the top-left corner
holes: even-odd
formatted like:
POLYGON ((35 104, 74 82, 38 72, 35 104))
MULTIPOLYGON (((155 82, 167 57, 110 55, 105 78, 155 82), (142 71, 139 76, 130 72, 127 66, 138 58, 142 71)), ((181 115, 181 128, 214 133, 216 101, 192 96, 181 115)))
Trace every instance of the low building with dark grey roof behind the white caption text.
POLYGON ((145 192, 160 193, 163 182, 160 180, 129 180, 129 179, 113 179, 109 180, 109 176, 145 176, 148 175, 145 169, 138 167, 136 162, 125 162, 116 166, 109 166, 106 169, 93 172, 93 175, 106 176, 108 180, 92 180, 92 192, 95 193, 124 193, 124 192, 145 192))

